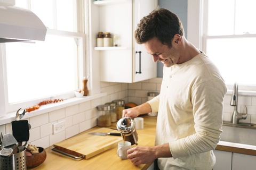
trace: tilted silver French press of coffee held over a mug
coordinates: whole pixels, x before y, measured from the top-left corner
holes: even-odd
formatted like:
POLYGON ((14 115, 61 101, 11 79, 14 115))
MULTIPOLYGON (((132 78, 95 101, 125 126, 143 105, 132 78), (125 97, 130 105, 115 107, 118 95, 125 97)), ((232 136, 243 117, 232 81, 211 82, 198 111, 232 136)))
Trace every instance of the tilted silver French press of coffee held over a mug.
POLYGON ((138 134, 135 129, 135 122, 130 117, 123 117, 119 119, 116 128, 121 132, 123 139, 129 141, 132 145, 138 145, 138 134))

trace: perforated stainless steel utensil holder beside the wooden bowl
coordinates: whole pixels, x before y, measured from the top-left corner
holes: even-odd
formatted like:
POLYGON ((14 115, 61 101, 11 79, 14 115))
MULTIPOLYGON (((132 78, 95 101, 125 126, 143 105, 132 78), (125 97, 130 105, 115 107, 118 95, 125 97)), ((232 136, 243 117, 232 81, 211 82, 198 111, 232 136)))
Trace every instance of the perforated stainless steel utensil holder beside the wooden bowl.
POLYGON ((10 157, 0 156, 0 170, 27 170, 26 147, 18 154, 12 154, 10 157))

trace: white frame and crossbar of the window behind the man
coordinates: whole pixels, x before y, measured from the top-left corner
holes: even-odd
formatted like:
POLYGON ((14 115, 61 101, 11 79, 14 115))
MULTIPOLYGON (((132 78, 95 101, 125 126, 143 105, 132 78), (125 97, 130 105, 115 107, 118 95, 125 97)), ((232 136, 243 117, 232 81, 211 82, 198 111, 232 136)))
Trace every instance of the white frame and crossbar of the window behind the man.
MULTIPOLYGON (((188 31, 187 39, 196 48, 202 49, 206 54, 206 39, 207 38, 241 38, 241 37, 256 37, 256 34, 244 35, 228 35, 228 36, 205 36, 207 32, 207 4, 208 0, 189 0, 188 1, 188 31)), ((231 94, 233 84, 226 84, 228 93, 231 94)), ((241 95, 256 96, 256 86, 239 84, 241 95)))

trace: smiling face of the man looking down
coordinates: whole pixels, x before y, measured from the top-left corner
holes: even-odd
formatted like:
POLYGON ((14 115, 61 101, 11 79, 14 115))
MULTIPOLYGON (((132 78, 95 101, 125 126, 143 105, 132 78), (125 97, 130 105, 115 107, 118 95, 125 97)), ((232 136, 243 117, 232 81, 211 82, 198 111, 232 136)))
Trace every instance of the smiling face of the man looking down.
POLYGON ((153 61, 160 61, 166 67, 170 67, 179 62, 179 55, 177 49, 174 46, 169 48, 167 45, 163 45, 156 37, 150 39, 144 44, 146 52, 153 56, 153 61))

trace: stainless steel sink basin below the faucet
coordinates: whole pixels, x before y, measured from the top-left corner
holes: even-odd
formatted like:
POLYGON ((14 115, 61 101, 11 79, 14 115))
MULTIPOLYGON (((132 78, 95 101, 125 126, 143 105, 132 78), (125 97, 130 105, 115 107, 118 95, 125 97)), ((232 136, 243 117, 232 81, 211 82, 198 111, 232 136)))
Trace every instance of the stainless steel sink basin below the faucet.
POLYGON ((256 146, 256 125, 249 123, 232 124, 223 122, 221 141, 256 146))

